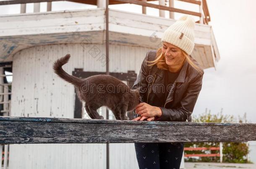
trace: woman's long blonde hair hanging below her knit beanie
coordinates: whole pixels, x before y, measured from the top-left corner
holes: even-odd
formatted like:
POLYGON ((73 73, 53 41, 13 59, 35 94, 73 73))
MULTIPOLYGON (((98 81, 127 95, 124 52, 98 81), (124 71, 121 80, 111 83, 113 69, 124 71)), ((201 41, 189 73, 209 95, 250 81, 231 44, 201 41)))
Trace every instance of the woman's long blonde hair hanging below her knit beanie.
MULTIPOLYGON (((188 61, 188 64, 190 64, 194 69, 196 69, 196 71, 198 71, 199 73, 202 73, 202 69, 200 66, 198 66, 192 59, 191 57, 184 52, 184 50, 181 49, 181 52, 183 53, 183 55, 185 56, 185 60, 188 61)), ((157 68, 159 69, 163 69, 163 70, 169 70, 168 69, 168 65, 165 62, 165 56, 162 53, 162 47, 157 49, 157 55, 154 61, 147 61, 148 63, 152 63, 152 64, 148 64, 148 66, 153 66, 155 64, 157 64, 157 68)))

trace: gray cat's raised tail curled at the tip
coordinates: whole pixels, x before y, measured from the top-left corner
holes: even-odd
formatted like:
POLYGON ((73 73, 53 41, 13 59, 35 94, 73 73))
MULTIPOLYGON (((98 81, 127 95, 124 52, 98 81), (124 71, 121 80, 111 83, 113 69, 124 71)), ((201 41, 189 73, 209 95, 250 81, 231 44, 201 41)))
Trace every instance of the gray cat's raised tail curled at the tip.
POLYGON ((62 68, 63 65, 68 63, 69 58, 70 54, 67 54, 64 57, 57 59, 57 61, 53 63, 52 68, 54 70, 54 73, 60 76, 60 78, 63 78, 65 81, 80 87, 83 80, 81 78, 77 78, 75 76, 68 74, 62 68))

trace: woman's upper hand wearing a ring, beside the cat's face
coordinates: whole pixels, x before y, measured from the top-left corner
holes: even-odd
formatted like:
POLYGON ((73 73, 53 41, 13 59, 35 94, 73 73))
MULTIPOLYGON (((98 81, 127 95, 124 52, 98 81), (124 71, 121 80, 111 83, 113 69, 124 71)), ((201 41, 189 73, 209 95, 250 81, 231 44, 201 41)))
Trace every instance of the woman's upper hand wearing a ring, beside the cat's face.
POLYGON ((151 106, 148 103, 139 103, 135 107, 135 113, 141 116, 154 117, 154 116, 162 116, 161 108, 156 106, 151 106))

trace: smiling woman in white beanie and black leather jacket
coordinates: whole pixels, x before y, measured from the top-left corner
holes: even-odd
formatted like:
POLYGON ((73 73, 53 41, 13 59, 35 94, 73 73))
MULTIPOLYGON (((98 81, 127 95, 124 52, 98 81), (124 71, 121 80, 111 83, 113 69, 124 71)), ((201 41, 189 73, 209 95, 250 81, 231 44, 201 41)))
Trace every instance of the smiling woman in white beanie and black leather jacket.
MULTIPOLYGON (((165 30, 162 47, 146 54, 133 89, 141 103, 135 121, 191 121, 204 71, 191 57, 195 21, 184 15, 165 30)), ((135 143, 140 169, 179 169, 183 143, 135 143)))

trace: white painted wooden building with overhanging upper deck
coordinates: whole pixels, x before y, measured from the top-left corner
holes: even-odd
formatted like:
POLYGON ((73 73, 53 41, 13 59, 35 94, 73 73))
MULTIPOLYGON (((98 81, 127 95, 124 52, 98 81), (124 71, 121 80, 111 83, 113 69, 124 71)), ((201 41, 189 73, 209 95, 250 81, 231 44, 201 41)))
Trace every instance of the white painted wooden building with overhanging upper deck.
MULTIPOLYGON (((101 7, 0 15, 0 62, 12 62, 13 73, 10 112, 4 115, 74 117, 74 87, 53 73, 52 64, 70 53, 69 63, 63 66, 68 73, 75 68, 104 72, 104 13, 101 7)), ((138 74, 146 52, 159 47, 162 33, 174 22, 110 9, 109 71, 138 74)), ((219 52, 211 25, 196 23, 195 35, 192 56, 204 68, 215 67, 219 52)), ((104 110, 99 111, 106 119, 104 110)), ((9 146, 8 167, 105 169, 106 160, 106 144, 21 144, 9 146)), ((109 162, 110 169, 137 169, 134 144, 110 144, 109 162)))

